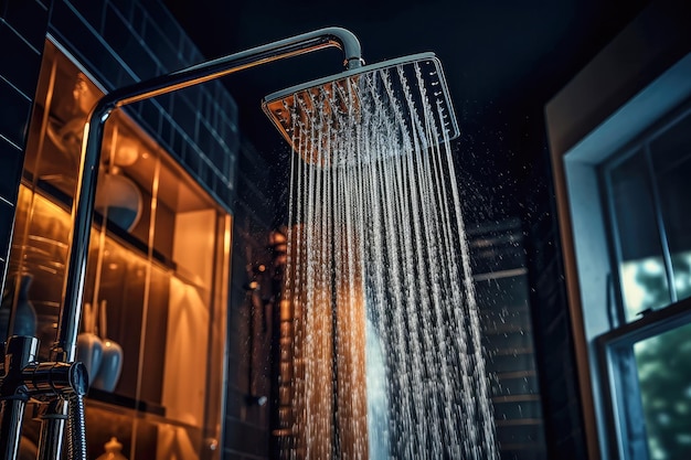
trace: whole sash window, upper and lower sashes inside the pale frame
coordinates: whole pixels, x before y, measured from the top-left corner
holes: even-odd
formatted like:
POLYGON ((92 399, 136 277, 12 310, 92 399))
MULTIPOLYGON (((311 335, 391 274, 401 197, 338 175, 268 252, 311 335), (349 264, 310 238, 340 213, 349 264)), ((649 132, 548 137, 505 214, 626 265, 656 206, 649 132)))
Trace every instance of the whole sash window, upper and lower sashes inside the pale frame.
POLYGON ((634 460, 691 454, 691 104, 599 168, 613 258, 598 339, 617 442, 634 460))

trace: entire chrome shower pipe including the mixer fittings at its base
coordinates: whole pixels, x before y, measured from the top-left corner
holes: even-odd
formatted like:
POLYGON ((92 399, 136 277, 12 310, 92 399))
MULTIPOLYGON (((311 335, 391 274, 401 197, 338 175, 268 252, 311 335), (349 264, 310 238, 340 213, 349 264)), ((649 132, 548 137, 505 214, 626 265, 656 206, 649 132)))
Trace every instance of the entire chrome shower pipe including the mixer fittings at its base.
MULTIPOLYGON (((29 382, 22 381, 23 377, 21 377, 25 374, 25 370, 30 366, 55 365, 61 368, 72 368, 71 374, 77 373, 75 371, 78 371, 81 376, 83 373, 83 366, 79 365, 81 363, 74 363, 76 355, 76 336, 79 318, 82 315, 86 261, 94 213, 94 199, 96 195, 96 180, 98 178, 100 161, 100 143, 104 137, 104 125, 110 116, 110 113, 118 107, 209 82, 244 68, 332 46, 343 52, 343 64, 347 69, 354 69, 362 65, 361 49, 358 38, 346 29, 327 28, 136 83, 116 89, 98 100, 84 127, 77 192, 72 208, 74 227, 70 240, 70 255, 66 267, 67 275, 63 285, 63 301, 57 321, 56 341, 51 346, 51 360, 53 362, 41 364, 32 363, 31 356, 34 354, 23 349, 30 346, 29 343, 31 343, 33 350, 36 346, 33 341, 20 340, 22 338, 13 340, 15 338, 12 338, 8 342, 8 349, 10 347, 9 345, 12 344, 12 349, 18 349, 14 353, 18 356, 24 356, 24 359, 14 360, 12 363, 14 371, 3 368, 3 379, 2 385, 0 385, 0 392, 2 392, 0 396, 3 400, 2 420, 0 421, 2 424, 2 432, 0 432, 0 452, 4 453, 3 458, 6 460, 17 459, 19 439, 21 436, 22 413, 25 405, 25 399, 12 398, 12 395, 9 393, 26 393, 29 382), (24 343, 26 343, 26 345, 24 345, 24 343), (6 385, 8 382, 6 376, 11 374, 10 371, 20 375, 20 377, 17 378, 17 384, 12 388, 10 388, 10 385, 6 385), (8 394, 6 395, 4 393, 8 394), (11 404, 6 404, 6 399, 11 399, 11 404)), ((35 339, 33 340, 35 341, 35 339)), ((6 353, 2 351, 0 354, 4 355, 6 353)), ((6 365, 6 367, 10 366, 6 365)), ((65 420, 70 413, 65 397, 72 394, 79 395, 79 393, 83 393, 84 381, 81 379, 81 377, 76 378, 75 382, 70 383, 66 387, 64 393, 55 391, 53 400, 43 407, 39 450, 40 460, 60 459, 65 420)), ((31 391, 30 387, 29 391, 31 391)), ((81 397, 77 399, 81 402, 81 397)), ((83 432, 79 436, 82 439, 76 439, 76 442, 83 441, 83 432)), ((77 438, 79 438, 79 436, 77 436, 77 438)), ((75 441, 73 440, 71 443, 72 442, 75 441)), ((70 450, 74 459, 86 460, 86 449, 84 447, 76 447, 75 449, 76 453, 71 446, 70 450)))

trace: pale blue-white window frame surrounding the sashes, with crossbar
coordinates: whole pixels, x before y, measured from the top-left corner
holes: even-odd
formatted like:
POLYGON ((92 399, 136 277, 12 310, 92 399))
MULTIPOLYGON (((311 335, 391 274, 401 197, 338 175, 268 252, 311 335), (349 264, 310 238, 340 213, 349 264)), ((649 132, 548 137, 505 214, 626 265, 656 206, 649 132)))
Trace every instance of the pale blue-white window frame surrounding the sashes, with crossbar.
MULTIPOLYGON (((613 248, 605 220, 608 210, 603 200, 605 191, 598 167, 690 97, 691 54, 560 156, 557 161, 561 164, 555 167, 557 191, 561 186, 566 195, 560 202, 560 213, 566 212, 567 216, 562 216, 560 223, 568 226, 562 235, 566 235, 565 261, 572 290, 570 308, 580 349, 576 353, 585 422, 588 424, 588 418, 596 421, 593 431, 604 459, 640 459, 625 457, 628 448, 624 445, 632 438, 630 431, 627 434, 626 429, 621 429, 621 400, 612 395, 612 389, 621 385, 616 368, 626 357, 623 350, 649 336, 646 334, 661 333, 665 328, 672 329, 691 320, 691 307, 687 301, 679 302, 623 325, 617 333, 613 332, 621 319, 616 290, 613 289, 613 280, 618 279, 613 270, 618 269, 618 264, 613 265, 613 248), (563 181, 561 185, 560 181, 563 181), (573 267, 571 272, 570 265, 573 267), (583 335, 578 336, 578 333, 583 335)), ((586 426, 586 431, 592 428, 586 426)))

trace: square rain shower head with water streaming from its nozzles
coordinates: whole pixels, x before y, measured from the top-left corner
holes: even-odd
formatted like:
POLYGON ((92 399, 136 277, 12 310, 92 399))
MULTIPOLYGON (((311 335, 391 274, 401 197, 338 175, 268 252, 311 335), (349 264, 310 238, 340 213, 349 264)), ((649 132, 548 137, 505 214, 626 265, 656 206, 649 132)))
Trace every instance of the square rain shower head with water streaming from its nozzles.
POLYGON ((325 152, 334 138, 352 132, 353 126, 372 111, 379 111, 380 119, 391 120, 404 149, 459 136, 442 64, 433 53, 366 65, 294 86, 266 96, 262 107, 306 162, 322 165, 329 162, 325 152), (433 136, 423 135, 422 126, 430 122, 435 126, 433 136))

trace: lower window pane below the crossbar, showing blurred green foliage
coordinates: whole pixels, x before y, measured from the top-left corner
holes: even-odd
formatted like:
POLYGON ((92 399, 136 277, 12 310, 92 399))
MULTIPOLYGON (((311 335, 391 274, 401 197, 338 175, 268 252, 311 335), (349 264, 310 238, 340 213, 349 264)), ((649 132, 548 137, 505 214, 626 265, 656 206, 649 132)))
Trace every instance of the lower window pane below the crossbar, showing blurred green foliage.
POLYGON ((691 452, 691 324, 634 345, 652 460, 691 452))

